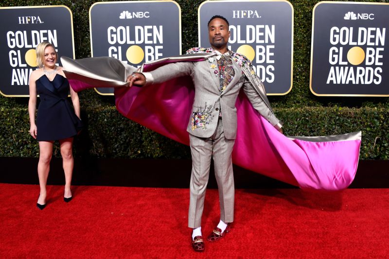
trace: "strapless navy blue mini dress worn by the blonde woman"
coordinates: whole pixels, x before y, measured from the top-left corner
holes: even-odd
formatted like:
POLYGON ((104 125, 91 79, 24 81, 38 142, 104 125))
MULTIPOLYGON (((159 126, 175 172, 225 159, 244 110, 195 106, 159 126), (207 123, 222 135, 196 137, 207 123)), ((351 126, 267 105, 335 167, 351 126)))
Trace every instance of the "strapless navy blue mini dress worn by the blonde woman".
POLYGON ((68 79, 55 74, 53 81, 50 81, 43 75, 35 84, 40 98, 36 115, 36 140, 59 140, 77 135, 82 129, 82 122, 68 102, 68 79))

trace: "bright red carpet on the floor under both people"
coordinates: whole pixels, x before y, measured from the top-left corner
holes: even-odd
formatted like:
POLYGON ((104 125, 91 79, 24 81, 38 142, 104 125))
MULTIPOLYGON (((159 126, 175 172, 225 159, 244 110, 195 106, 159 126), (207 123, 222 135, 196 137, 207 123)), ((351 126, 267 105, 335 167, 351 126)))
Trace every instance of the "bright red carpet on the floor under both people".
MULTIPOLYGON (((189 190, 0 184, 0 258, 388 258, 389 189, 317 194, 236 190, 235 222, 204 253, 190 246, 189 190)), ((207 190, 203 234, 219 221, 207 190)))

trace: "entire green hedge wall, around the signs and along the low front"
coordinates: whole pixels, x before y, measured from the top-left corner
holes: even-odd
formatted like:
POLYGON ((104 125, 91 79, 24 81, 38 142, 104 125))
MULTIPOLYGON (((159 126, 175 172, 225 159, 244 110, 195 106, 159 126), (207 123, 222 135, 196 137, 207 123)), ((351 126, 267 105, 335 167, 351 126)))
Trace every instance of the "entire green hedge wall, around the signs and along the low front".
MULTIPOLYGON (((199 0, 176 0, 182 14, 182 50, 197 46, 199 0)), ((389 2, 389 0, 358 0, 389 2)), ((90 56, 89 7, 95 1, 3 0, 1 6, 66 5, 73 14, 76 58, 90 56)), ((334 135, 362 130, 361 159, 389 159, 389 99, 317 97, 309 90, 312 10, 318 0, 290 0, 294 7, 293 88, 270 96, 284 133, 291 136, 334 135)), ((189 158, 189 148, 125 119, 114 97, 93 90, 79 94, 86 130, 74 143, 75 156, 189 158)), ((0 156, 37 156, 29 134, 28 98, 0 96, 0 156)), ((58 149, 54 150, 58 155, 58 149)))

